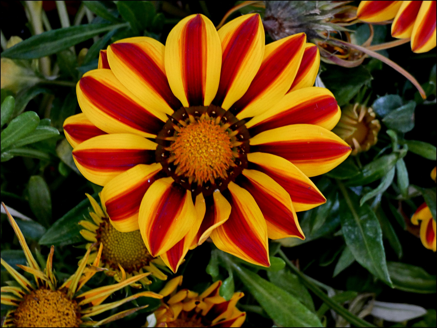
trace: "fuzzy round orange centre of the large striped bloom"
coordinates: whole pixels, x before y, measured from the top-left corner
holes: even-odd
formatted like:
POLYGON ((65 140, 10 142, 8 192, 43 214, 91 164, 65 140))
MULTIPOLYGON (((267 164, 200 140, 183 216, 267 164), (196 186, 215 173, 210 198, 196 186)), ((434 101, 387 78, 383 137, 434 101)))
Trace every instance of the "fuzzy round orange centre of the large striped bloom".
POLYGON ((180 128, 170 151, 176 173, 199 184, 227 177, 232 165, 231 137, 213 120, 194 121, 180 128))

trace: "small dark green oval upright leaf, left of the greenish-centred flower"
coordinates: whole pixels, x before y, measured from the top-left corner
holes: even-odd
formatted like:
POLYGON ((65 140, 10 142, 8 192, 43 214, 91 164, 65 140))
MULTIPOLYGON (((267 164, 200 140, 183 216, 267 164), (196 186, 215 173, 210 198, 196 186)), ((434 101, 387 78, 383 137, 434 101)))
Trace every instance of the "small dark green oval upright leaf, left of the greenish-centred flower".
POLYGON ((38 221, 46 227, 52 219, 52 198, 49 186, 42 176, 31 176, 29 179, 29 205, 38 221))

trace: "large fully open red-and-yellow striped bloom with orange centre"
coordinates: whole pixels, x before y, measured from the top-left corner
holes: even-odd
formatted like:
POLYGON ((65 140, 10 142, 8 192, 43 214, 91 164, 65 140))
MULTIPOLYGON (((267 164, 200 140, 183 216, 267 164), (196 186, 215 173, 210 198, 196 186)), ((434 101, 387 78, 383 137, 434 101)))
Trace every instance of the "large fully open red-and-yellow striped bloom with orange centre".
POLYGON ((114 227, 139 229, 173 272, 209 235, 261 266, 267 236, 304 238, 296 211, 326 201, 308 177, 351 151, 329 131, 340 108, 311 87, 319 53, 305 39, 264 45, 258 14, 218 31, 198 14, 165 47, 146 37, 110 45, 101 59, 110 69, 80 79, 83 114, 64 131, 80 172, 104 186, 114 227))

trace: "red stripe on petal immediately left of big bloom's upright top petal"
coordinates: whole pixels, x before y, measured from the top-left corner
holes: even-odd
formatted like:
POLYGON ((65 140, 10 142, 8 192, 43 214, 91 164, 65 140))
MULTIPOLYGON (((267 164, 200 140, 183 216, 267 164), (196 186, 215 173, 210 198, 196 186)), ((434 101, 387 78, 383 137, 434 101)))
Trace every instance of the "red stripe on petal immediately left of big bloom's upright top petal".
POLYGON ((138 45, 122 42, 113 43, 111 50, 138 76, 141 76, 171 108, 178 109, 182 106, 179 99, 173 95, 165 73, 138 45))

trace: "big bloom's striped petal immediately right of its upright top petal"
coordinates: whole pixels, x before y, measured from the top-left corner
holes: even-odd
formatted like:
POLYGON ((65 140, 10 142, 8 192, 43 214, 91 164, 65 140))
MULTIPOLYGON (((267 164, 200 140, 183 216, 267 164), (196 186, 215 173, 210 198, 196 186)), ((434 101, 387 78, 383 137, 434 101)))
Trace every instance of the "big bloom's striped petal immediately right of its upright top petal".
POLYGON ((235 18, 218 31, 222 72, 214 102, 228 110, 250 86, 264 57, 264 28, 259 14, 235 18))

